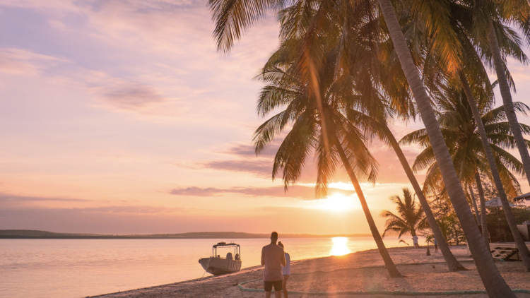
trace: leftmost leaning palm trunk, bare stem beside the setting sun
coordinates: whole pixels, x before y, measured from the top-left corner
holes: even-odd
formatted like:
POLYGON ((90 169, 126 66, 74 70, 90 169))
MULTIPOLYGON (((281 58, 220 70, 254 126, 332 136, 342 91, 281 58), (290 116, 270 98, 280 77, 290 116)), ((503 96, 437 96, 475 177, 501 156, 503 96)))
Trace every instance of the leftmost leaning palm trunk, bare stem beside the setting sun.
POLYGON ((348 157, 346 157, 346 153, 344 153, 341 143, 338 140, 336 140, 336 148, 338 151, 338 155, 341 156, 341 160, 344 167, 346 168, 346 172, 348 172, 348 176, 350 176, 353 188, 355 188, 355 193, 357 193, 357 196, 359 197, 360 205, 363 206, 363 211, 365 213, 366 220, 368 222, 368 225, 370 226, 370 232, 372 232, 372 236, 374 237, 375 243, 377 244, 377 249, 379 249, 379 254, 381 254, 383 258, 384 265, 387 267, 390 277, 403 278, 403 275, 401 275, 401 273, 399 273, 399 270, 397 270, 394 261, 392 261, 392 258, 390 258, 390 254, 388 253, 387 247, 384 246, 381 234, 379 234, 379 231, 377 230, 377 226, 375 225, 372 213, 370 213, 370 209, 368 208, 368 204, 366 203, 363 190, 360 189, 359 181, 355 176, 353 169, 351 168, 350 161, 348 160, 348 157))

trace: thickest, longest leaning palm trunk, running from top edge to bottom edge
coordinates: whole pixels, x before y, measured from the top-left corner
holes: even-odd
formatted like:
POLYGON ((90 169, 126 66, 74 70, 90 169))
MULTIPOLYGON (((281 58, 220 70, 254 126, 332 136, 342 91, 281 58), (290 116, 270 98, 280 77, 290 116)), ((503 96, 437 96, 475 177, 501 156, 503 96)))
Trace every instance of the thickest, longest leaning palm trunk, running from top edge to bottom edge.
POLYGON ((462 190, 457 172, 454 169, 451 155, 449 155, 449 150, 447 150, 447 145, 440 131, 440 126, 438 126, 435 113, 430 105, 429 97, 418 74, 418 69, 414 64, 411 52, 408 50, 403 32, 401 32, 401 26, 396 17, 394 6, 391 0, 378 1, 384 20, 387 23, 390 37, 392 42, 394 42, 394 48, 401 63, 401 68, 403 68, 408 84, 411 86, 416 99, 418 109, 420 110, 421 118, 430 138, 436 161, 440 166, 440 172, 442 173, 447 193, 460 220, 462 229, 464 229, 464 234, 469 243, 469 250, 473 255, 478 274, 481 275, 485 290, 488 292, 490 298, 515 298, 515 294, 510 290, 510 287, 508 287, 504 278, 500 275, 497 266, 495 266, 490 249, 482 239, 481 232, 475 224, 473 214, 469 210, 466 196, 462 190))

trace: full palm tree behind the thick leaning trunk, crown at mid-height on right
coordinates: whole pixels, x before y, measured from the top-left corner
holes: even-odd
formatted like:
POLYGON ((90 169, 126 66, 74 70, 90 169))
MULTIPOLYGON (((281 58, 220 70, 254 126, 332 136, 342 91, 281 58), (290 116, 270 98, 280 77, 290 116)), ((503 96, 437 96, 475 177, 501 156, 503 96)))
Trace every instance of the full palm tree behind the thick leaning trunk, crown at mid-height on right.
MULTIPOLYGON (((465 100, 465 95, 461 90, 447 88, 445 91, 445 100, 441 103, 441 115, 439 117, 442 133, 446 139, 447 146, 451 148, 451 154, 455 167, 459 170, 459 177, 463 184, 476 183, 479 198, 481 201, 481 219, 483 227, 483 237, 488 240, 488 232, 485 225, 485 198, 483 194, 481 177, 479 172, 490 174, 487 157, 483 150, 481 138, 477 131, 477 124, 474 121, 473 113, 469 102, 465 100)), ((502 107, 490 109, 486 105, 483 107, 480 119, 485 124, 486 140, 490 140, 488 148, 493 150, 492 155, 495 168, 498 168, 499 179, 502 189, 506 189, 511 196, 517 196, 519 193, 519 183, 514 175, 510 172, 522 173, 523 167, 516 157, 508 153, 505 148, 513 148, 514 141, 509 133, 509 124, 503 122, 505 119, 502 107), (488 110, 489 109, 489 110, 488 110), (501 178, 502 177, 502 178, 501 178)), ((524 112, 528 107, 516 102, 517 109, 524 112)), ((475 105, 476 107, 476 105, 475 105)), ((522 125, 524 131, 529 131, 530 126, 522 125)), ((530 132, 530 131, 529 131, 530 132)), ((440 169, 435 158, 432 155, 432 148, 428 136, 424 130, 409 133, 401 140, 403 144, 420 143, 425 147, 420 155, 416 158, 413 169, 421 170, 428 167, 427 178, 425 179, 424 189, 432 193, 440 180, 440 169)), ((490 175, 491 177, 491 175, 490 175)))

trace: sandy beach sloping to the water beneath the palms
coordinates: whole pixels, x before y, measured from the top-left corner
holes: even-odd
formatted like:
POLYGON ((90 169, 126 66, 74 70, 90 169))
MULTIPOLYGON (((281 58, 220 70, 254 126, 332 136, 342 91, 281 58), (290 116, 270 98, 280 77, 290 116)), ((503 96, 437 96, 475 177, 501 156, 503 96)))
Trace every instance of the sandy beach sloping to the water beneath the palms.
MULTIPOLYGON (((310 258, 291 262, 289 297, 488 297, 466 246, 451 246, 453 254, 469 270, 449 272, 441 252, 426 256, 426 248, 390 248, 389 254, 405 278, 389 278, 377 249, 344 256, 310 258), (465 292, 468 291, 468 292, 465 292), (469 292, 475 291, 475 292, 469 292), (390 292, 396 292, 389 294, 390 292)), ((530 297, 530 273, 520 261, 495 261, 517 297, 530 297)), ((102 294, 101 298, 166 297, 263 297, 259 292, 263 268, 209 276, 156 287, 102 294)))

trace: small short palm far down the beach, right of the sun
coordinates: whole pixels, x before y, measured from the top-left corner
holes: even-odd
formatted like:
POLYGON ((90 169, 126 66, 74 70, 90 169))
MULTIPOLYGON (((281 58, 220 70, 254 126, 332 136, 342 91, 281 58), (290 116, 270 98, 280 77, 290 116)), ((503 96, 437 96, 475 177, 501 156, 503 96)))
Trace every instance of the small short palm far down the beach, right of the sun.
POLYGON ((389 210, 382 210, 381 212, 381 217, 387 218, 387 222, 384 224, 383 237, 387 232, 389 234, 398 234, 398 239, 406 233, 416 236, 416 231, 429 227, 423 209, 416 203, 411 191, 406 187, 402 190, 403 198, 399 195, 390 197, 390 201, 396 204, 398 215, 391 213, 389 210))

